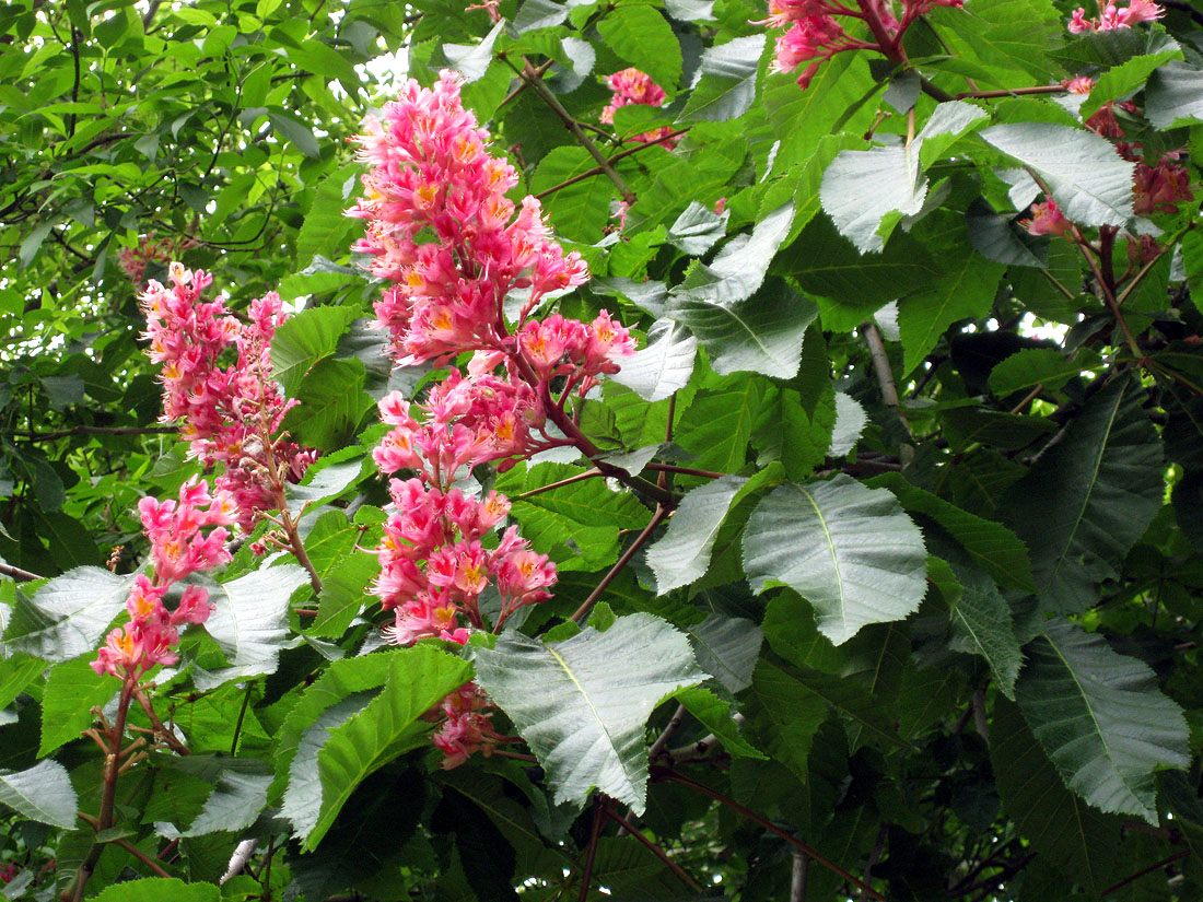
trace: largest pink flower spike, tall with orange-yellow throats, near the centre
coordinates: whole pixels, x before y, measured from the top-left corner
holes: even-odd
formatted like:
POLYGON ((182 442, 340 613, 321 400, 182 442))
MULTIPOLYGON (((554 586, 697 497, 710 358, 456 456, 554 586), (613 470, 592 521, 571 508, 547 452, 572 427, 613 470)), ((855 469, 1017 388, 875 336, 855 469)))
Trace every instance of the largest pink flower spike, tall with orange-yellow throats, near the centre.
MULTIPOLYGON (((644 95, 654 99, 647 87, 644 95)), ((377 326, 389 331, 398 366, 473 356, 467 373, 451 367, 421 403, 398 393, 380 400, 392 429, 373 457, 386 474, 414 475, 390 482, 395 511, 377 548, 374 593, 393 612, 385 630, 391 642, 464 643, 472 630, 497 630, 518 607, 550 598, 556 569, 516 527, 493 538, 509 512, 506 498, 474 498, 456 482, 480 463, 504 469, 573 444, 551 423, 571 426, 568 399, 617 372, 616 358, 632 354, 634 342, 605 311, 587 324, 532 318, 550 293, 582 284, 588 271, 551 237, 537 198, 516 207, 505 196, 517 173, 488 153, 488 132, 463 108, 454 73, 442 72, 429 89, 410 81, 383 112, 357 137, 372 170, 363 198, 348 212, 367 220, 355 250, 393 283, 375 303, 377 326), (521 304, 512 324, 504 308, 511 292, 521 304), (486 589, 497 599, 491 624, 481 610, 486 589)), ((500 740, 488 708, 474 683, 444 700, 434 736, 444 766, 487 754, 500 740)))

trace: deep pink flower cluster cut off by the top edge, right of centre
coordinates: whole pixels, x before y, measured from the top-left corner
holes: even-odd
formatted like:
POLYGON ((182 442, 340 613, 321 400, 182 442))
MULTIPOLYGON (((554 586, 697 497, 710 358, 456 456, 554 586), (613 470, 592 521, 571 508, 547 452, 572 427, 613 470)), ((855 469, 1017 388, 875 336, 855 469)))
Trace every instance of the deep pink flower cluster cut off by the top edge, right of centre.
POLYGON ((902 35, 918 17, 936 6, 964 5, 965 0, 901 0, 901 8, 896 8, 893 0, 866 0, 854 10, 840 0, 769 0, 769 16, 752 24, 789 29, 777 38, 772 69, 793 72, 810 61, 798 77, 798 83, 807 88, 819 65, 835 54, 877 51, 894 59, 902 35), (836 17, 860 19, 873 40, 849 35, 836 17))

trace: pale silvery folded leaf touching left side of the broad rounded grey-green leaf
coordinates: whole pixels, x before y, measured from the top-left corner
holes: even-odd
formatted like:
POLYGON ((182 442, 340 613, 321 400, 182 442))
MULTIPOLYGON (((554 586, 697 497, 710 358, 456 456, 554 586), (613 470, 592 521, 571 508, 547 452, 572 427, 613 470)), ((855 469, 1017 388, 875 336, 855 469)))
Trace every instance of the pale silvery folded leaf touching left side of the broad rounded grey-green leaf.
POLYGON ((647 548, 647 565, 656 574, 656 594, 701 578, 710 566, 718 528, 746 485, 743 476, 723 476, 686 493, 668 530, 647 548))

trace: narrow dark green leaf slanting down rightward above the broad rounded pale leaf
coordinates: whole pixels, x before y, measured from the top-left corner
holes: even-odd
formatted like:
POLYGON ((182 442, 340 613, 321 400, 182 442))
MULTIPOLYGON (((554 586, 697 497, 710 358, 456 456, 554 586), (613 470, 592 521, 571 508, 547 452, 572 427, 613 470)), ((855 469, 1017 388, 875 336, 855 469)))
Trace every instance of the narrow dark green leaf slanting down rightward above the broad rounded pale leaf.
POLYGON ((925 492, 899 473, 884 473, 869 482, 873 488, 888 488, 911 514, 931 517, 968 552, 973 563, 1000 586, 1032 592, 1032 565, 1027 548, 1001 523, 961 510, 943 498, 925 492))

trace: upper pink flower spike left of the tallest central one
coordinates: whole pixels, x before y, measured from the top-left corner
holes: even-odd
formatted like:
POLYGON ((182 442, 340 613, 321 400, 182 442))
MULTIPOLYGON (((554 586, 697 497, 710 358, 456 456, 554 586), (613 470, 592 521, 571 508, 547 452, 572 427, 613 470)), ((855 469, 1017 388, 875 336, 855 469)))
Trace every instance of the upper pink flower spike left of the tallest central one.
MULTIPOLYGON (((207 467, 223 464, 217 487, 230 492, 238 526, 249 530, 256 511, 279 506, 268 486, 266 441, 271 441, 291 402, 271 379, 272 337, 284 321, 275 292, 253 301, 248 322, 225 309, 225 301, 202 301, 213 277, 190 272, 182 263, 168 268, 172 286, 150 280, 142 293, 150 340, 148 355, 161 363, 164 422, 182 420, 182 437, 190 453, 207 467), (227 367, 219 358, 229 349, 236 360, 227 367)), ((297 481, 316 452, 288 441, 275 441, 274 462, 297 481)))

